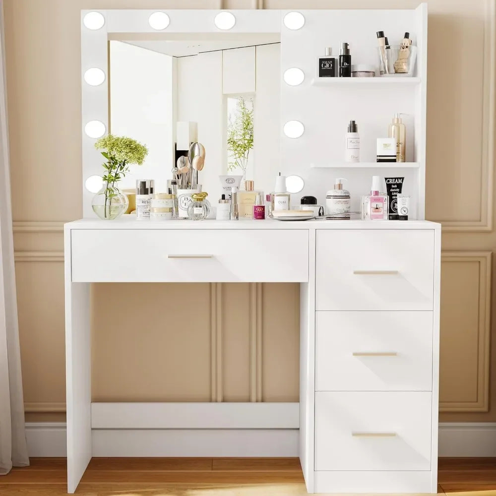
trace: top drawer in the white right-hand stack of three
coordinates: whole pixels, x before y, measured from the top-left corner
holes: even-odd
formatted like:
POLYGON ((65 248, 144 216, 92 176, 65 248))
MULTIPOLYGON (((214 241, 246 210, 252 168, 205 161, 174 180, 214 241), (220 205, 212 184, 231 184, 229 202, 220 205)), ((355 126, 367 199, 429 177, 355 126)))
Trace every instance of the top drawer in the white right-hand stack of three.
POLYGON ((316 237, 316 310, 433 310, 434 230, 316 237))

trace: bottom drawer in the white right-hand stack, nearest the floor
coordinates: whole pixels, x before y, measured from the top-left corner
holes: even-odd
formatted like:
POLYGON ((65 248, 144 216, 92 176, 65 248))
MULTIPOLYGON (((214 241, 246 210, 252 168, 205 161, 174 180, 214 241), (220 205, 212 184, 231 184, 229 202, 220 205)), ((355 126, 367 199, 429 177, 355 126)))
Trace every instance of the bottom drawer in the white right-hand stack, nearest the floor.
POLYGON ((429 392, 315 393, 315 470, 431 470, 429 392))

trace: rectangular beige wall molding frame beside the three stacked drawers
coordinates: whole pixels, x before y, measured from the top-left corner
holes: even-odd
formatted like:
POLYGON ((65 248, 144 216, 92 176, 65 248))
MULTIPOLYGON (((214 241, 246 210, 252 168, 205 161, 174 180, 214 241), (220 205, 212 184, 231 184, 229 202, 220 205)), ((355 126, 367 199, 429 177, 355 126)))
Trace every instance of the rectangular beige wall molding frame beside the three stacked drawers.
MULTIPOLYGON (((475 262, 478 264, 478 295, 477 295, 477 361, 474 372, 477 390, 474 391, 474 400, 451 400, 439 401, 440 412, 488 412, 489 411, 489 386, 490 386, 490 338, 491 338, 491 251, 444 251, 441 255, 442 264, 457 264, 466 262, 475 262)), ((446 270, 446 265, 444 265, 446 270)), ((442 279, 441 269, 441 279, 442 279)), ((466 293, 467 288, 461 285, 460 292, 466 293)), ((463 300, 463 295, 461 296, 463 300)), ((468 311, 468 309, 467 309, 468 311)), ((441 323, 442 318, 442 303, 441 303, 441 323)), ((463 331, 463 329, 461 329, 463 331)), ((441 336, 446 332, 441 326, 441 336)), ((447 336, 444 335, 445 343, 448 342, 447 336)), ((460 350, 460 355, 465 353, 465 350, 460 350)), ((441 360, 442 341, 441 341, 441 360)), ((455 360, 456 361, 456 360, 455 360)), ((465 364, 456 361, 454 367, 460 369, 465 364)), ((445 366, 444 370, 449 367, 445 366)), ((441 368, 441 371, 443 368, 441 368)), ((442 372, 441 372, 442 374, 442 372)), ((441 398, 442 398, 442 376, 441 376, 441 398)))

